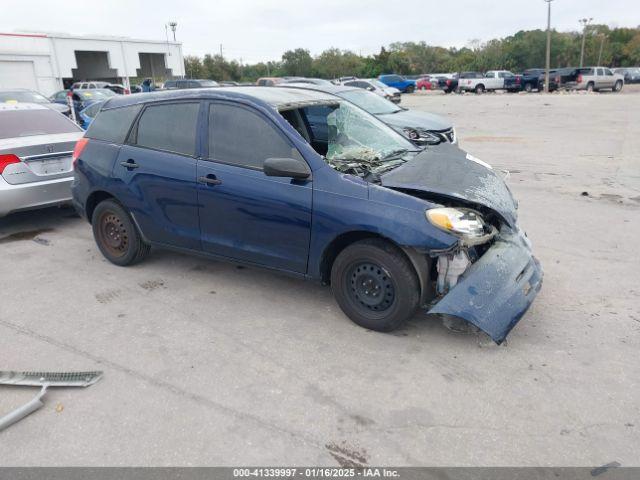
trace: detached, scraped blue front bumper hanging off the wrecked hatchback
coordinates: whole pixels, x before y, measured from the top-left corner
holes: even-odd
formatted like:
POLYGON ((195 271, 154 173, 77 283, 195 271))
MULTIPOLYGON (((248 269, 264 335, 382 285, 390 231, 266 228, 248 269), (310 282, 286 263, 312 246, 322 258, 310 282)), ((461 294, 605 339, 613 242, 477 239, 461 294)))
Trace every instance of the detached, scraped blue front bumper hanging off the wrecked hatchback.
POLYGON ((466 320, 501 344, 540 291, 542 277, 524 233, 503 229, 428 313, 466 320))

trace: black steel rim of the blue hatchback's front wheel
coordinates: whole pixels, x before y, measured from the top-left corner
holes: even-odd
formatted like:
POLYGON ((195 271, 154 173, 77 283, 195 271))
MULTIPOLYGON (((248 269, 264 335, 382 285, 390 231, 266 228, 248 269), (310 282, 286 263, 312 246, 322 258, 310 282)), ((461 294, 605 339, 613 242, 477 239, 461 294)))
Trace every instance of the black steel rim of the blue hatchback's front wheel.
POLYGON ((357 262, 347 270, 350 301, 367 314, 389 310, 396 300, 396 287, 383 267, 373 262, 357 262))

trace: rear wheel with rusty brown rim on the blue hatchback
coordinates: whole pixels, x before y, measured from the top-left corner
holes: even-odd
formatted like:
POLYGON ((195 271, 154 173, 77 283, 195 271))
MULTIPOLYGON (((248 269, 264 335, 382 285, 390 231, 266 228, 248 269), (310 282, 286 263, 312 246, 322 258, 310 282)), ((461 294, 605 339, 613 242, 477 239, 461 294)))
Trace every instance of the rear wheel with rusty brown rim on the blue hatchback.
POLYGON ((104 200, 91 217, 93 238, 111 263, 124 267, 142 261, 151 250, 129 214, 115 200, 104 200))

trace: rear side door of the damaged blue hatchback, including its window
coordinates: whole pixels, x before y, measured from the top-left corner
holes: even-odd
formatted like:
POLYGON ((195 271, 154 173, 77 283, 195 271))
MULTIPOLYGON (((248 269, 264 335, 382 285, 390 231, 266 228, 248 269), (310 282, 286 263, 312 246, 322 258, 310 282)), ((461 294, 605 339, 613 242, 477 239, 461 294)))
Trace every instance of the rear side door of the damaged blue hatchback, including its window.
POLYGON ((200 249, 199 110, 198 101, 148 105, 113 167, 120 200, 152 242, 200 249))

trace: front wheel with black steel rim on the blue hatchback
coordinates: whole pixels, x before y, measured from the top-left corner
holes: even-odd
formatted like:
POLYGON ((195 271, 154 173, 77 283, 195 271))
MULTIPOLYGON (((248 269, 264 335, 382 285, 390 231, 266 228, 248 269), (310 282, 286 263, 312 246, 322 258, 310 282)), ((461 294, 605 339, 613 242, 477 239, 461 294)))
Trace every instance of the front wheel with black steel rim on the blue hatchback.
POLYGON ((395 330, 420 303, 413 266, 394 245, 381 239, 353 243, 331 268, 331 290, 342 311, 361 327, 395 330))

